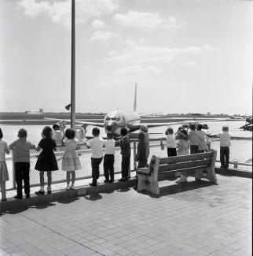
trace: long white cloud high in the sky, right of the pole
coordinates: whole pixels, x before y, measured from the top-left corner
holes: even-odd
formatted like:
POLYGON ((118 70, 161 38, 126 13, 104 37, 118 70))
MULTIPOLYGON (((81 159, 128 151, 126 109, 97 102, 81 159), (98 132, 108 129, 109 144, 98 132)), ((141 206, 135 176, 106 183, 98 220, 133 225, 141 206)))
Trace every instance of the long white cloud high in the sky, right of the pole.
POLYGON ((159 13, 138 13, 129 11, 127 14, 115 14, 116 20, 123 27, 136 28, 179 28, 177 20, 174 17, 160 17, 159 13))

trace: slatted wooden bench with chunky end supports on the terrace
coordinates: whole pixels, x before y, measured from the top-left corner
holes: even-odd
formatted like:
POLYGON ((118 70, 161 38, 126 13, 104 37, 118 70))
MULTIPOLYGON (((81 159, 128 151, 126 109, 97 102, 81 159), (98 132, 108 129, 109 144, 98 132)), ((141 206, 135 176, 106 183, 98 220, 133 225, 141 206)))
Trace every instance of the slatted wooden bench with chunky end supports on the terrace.
POLYGON ((148 168, 137 169, 137 190, 147 190, 153 195, 159 195, 158 180, 177 178, 181 173, 185 176, 195 176, 195 180, 205 178, 217 183, 214 172, 216 155, 215 150, 170 158, 158 158, 153 155, 148 168))

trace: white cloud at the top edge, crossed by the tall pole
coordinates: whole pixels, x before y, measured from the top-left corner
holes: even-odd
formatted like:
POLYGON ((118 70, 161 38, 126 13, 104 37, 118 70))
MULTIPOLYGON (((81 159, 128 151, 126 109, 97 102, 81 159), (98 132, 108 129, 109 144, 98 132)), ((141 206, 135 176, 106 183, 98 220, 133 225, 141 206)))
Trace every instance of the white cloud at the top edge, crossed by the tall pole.
MULTIPOLYGON (((46 13, 53 22, 64 24, 70 28, 71 24, 71 1, 53 3, 49 0, 36 2, 35 0, 21 0, 17 6, 23 9, 24 14, 36 17, 41 13, 46 13)), ((119 8, 118 0, 77 0, 75 1, 76 23, 83 23, 91 17, 102 14, 113 13, 119 8)))

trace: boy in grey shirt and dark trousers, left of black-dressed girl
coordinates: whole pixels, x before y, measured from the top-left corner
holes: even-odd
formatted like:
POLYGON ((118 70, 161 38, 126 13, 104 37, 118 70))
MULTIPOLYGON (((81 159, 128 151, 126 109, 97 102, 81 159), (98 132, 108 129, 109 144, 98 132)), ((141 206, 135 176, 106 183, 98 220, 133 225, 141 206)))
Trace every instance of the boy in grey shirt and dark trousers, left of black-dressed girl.
POLYGON ((13 161, 15 165, 16 195, 14 198, 22 199, 22 180, 24 180, 24 193, 26 198, 30 198, 30 153, 29 150, 35 149, 35 145, 27 142, 27 131, 20 129, 16 139, 9 145, 13 151, 13 161))

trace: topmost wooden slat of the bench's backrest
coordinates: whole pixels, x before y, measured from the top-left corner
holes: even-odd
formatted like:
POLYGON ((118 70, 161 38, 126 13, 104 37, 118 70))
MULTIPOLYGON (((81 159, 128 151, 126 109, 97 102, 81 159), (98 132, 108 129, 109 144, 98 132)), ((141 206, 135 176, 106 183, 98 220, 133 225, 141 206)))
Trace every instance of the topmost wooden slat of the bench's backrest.
POLYGON ((174 164, 180 161, 189 161, 189 160, 202 160, 204 158, 211 158, 212 152, 207 153, 199 153, 199 154, 187 154, 187 155, 180 155, 177 157, 170 157, 170 158, 160 158, 159 164, 174 164))

